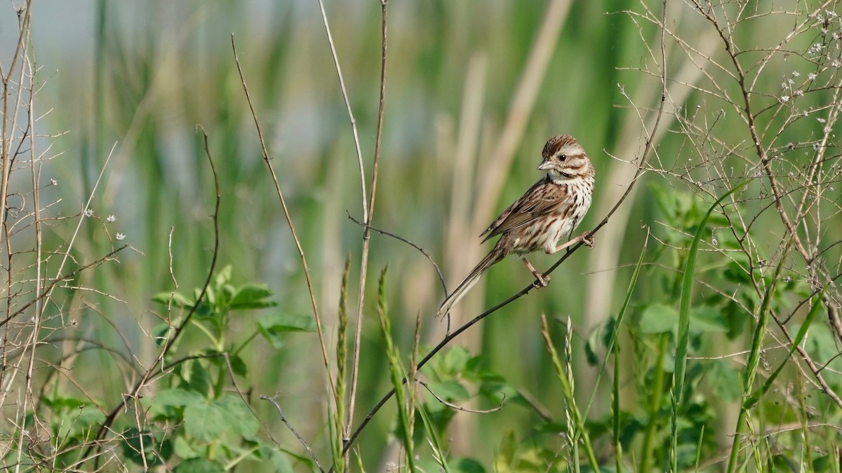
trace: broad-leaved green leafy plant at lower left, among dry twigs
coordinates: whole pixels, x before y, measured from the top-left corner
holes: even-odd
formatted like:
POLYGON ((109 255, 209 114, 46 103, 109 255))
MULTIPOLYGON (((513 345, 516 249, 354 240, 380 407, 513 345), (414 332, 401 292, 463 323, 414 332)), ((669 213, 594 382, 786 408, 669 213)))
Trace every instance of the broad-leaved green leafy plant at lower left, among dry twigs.
POLYGON ((252 332, 240 343, 229 342, 228 326, 239 320, 234 317, 235 311, 278 306, 270 299, 272 292, 264 284, 237 286, 231 281, 232 268, 221 269, 198 306, 196 300, 202 294, 201 289, 194 290, 192 298, 178 292, 159 293, 152 298, 158 304, 186 313, 195 310, 195 318, 190 321, 194 332, 206 337, 215 348, 182 359, 175 359, 175 353, 169 353, 168 359, 175 359, 171 375, 164 378, 163 389, 141 402, 152 426, 160 430, 135 432, 124 442, 125 451, 136 453, 128 456, 136 465, 149 465, 150 458, 168 460, 174 454, 182 460, 175 468, 177 471, 222 471, 246 460, 270 460, 283 467, 281 470, 290 469, 283 455, 257 437, 260 423, 242 391, 237 388, 237 395, 225 391, 229 379, 248 377, 248 364, 238 353, 254 337, 260 334, 270 346, 280 349, 291 332, 315 332, 315 322, 311 316, 264 313, 253 322, 252 332), (148 437, 145 443, 148 449, 150 444, 161 444, 152 439, 163 433, 166 443, 150 452, 153 456, 146 454, 146 450, 140 454, 138 439, 148 437))

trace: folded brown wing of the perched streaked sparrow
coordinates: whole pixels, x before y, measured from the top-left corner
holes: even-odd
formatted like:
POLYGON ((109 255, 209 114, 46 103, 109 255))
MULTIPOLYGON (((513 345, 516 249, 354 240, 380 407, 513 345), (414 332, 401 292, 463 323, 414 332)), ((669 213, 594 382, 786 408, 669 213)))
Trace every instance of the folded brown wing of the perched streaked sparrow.
MULTIPOLYGON (((558 210, 563 205, 567 195, 565 186, 552 183, 549 178, 543 178, 535 183, 520 199, 503 211, 482 235, 488 233, 482 242, 496 237, 505 231, 514 230, 536 221, 542 215, 558 210)), ((480 235, 480 237, 482 237, 480 235)))

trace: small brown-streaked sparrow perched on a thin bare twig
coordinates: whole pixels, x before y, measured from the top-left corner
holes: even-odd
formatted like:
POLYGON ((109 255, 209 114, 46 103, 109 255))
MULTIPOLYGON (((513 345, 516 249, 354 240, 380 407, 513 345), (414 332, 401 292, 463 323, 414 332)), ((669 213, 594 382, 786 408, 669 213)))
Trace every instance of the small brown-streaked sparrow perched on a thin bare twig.
POLYGON ((594 193, 595 172, 588 155, 576 139, 569 135, 551 138, 546 142, 541 155, 544 160, 538 169, 546 171, 546 176, 520 199, 515 200, 514 204, 509 205, 482 232, 480 237, 488 233, 482 242, 498 235, 501 237, 493 250, 442 302, 437 316, 445 316, 477 284, 486 269, 511 254, 523 259, 526 267, 535 275, 538 287, 546 287, 548 278, 536 271, 525 258, 526 253, 543 250, 552 254, 578 242, 593 247, 589 232, 568 240, 588 211, 594 193), (568 242, 557 246, 560 240, 568 242))

